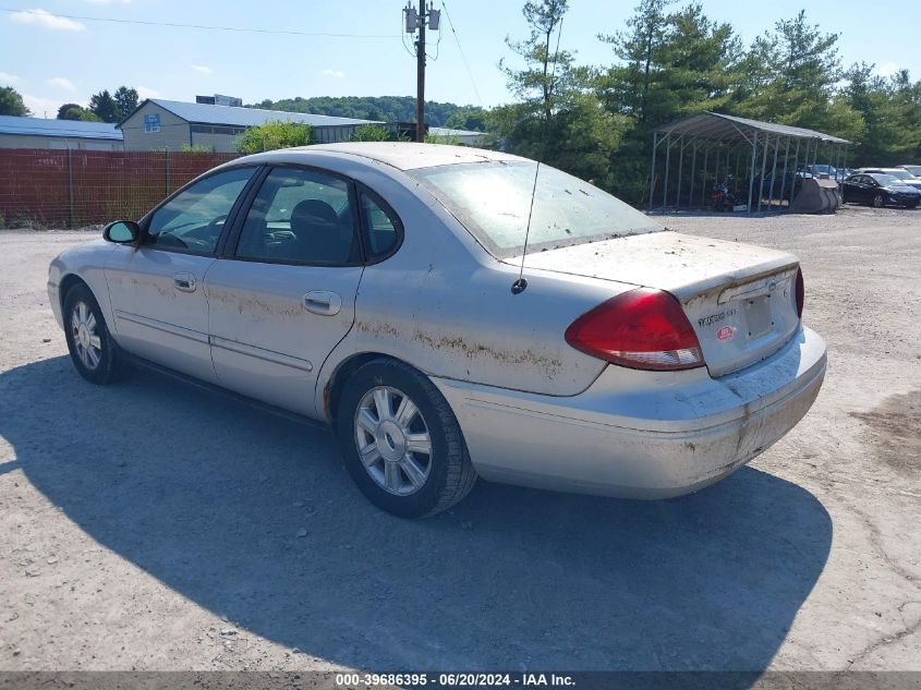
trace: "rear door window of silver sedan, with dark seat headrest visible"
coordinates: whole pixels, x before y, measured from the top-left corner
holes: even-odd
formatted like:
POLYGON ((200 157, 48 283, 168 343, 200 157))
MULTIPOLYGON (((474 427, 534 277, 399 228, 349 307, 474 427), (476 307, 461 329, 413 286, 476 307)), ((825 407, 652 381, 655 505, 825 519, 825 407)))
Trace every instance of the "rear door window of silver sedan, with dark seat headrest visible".
POLYGON ((237 256, 275 263, 359 263, 348 183, 313 170, 276 168, 253 201, 237 256))

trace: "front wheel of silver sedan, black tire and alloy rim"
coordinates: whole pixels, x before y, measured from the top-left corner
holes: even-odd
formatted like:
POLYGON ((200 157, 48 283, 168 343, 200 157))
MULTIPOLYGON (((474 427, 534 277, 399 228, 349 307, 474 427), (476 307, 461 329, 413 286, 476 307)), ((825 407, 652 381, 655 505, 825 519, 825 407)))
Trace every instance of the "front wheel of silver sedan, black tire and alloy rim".
POLYGON ((81 376, 97 385, 118 378, 118 346, 109 334, 99 303, 85 285, 74 286, 64 296, 64 335, 81 376))

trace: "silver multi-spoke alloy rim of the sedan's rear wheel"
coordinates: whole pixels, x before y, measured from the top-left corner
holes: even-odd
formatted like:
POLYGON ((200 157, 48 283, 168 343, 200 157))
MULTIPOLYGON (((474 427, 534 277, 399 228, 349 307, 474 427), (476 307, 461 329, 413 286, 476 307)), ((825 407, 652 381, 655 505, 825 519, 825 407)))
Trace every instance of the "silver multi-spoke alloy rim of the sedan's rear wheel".
POLYGON ((355 410, 355 444, 362 465, 383 489, 415 494, 432 472, 432 436, 416 404, 401 390, 376 386, 355 410))

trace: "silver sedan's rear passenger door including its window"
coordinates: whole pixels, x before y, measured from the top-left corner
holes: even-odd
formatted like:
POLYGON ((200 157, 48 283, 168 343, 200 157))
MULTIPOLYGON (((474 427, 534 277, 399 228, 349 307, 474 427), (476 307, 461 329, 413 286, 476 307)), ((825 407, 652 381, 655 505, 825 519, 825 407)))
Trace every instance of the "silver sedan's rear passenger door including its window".
POLYGON ((277 167, 229 255, 205 278, 219 383, 308 416, 324 360, 349 332, 363 271, 355 191, 327 171, 277 167))

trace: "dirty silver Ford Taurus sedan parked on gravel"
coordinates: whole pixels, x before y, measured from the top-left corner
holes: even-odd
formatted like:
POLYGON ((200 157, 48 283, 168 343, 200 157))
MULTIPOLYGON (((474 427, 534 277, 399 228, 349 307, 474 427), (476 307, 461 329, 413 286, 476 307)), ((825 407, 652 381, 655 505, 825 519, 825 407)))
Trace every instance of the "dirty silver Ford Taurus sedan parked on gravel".
POLYGON ((796 257, 474 148, 240 158, 61 254, 48 287, 87 380, 133 360, 326 423, 407 517, 477 476, 699 489, 790 431, 826 366, 796 257))

